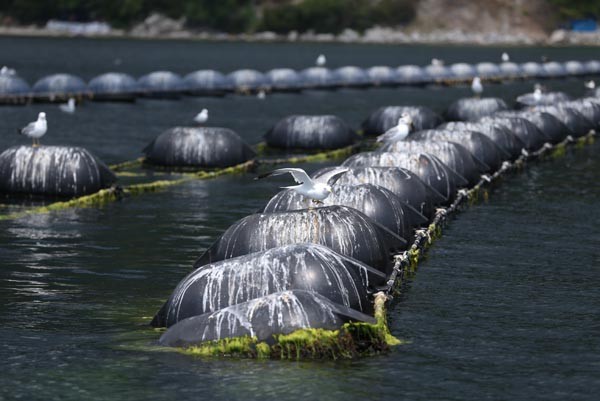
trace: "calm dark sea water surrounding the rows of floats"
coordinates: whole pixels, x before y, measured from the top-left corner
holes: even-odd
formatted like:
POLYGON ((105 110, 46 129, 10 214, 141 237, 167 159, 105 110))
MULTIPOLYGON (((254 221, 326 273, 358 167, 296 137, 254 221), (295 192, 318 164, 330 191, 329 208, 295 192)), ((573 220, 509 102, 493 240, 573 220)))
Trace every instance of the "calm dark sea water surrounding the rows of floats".
MULTIPOLYGON (((0 38, 0 64, 30 82, 119 70, 230 71, 499 59, 504 49, 0 38), (120 63, 119 65, 117 65, 120 63)), ((597 57, 593 48, 511 48, 513 60, 597 57)), ((494 85, 508 101, 531 82, 494 85)), ((580 80, 549 81, 580 96, 580 80)), ((261 140, 292 113, 358 124, 388 104, 437 111, 467 88, 402 88, 0 108, 0 149, 46 111, 45 144, 129 160, 203 107, 211 123, 261 140)), ((0 223, 0 399, 594 400, 600 394, 600 145, 534 163, 457 215, 390 308, 407 341, 356 361, 201 360, 152 347, 147 323, 196 257, 277 184, 250 175, 189 182, 102 208, 0 223)), ((306 165, 316 169, 321 165, 306 165)), ((0 205, 0 212, 5 206, 0 205)))

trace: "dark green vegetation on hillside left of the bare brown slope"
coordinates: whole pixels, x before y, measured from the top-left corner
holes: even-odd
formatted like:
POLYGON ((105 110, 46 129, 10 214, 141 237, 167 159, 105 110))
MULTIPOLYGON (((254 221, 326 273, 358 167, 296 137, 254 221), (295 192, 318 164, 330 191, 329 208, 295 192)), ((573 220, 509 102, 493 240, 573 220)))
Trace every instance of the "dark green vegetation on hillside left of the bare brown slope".
POLYGON ((189 27, 224 32, 339 32, 398 25, 414 17, 416 0, 3 0, 0 14, 21 24, 49 19, 100 20, 130 28, 153 12, 185 17, 189 27), (261 17, 262 16, 262 17, 261 17))

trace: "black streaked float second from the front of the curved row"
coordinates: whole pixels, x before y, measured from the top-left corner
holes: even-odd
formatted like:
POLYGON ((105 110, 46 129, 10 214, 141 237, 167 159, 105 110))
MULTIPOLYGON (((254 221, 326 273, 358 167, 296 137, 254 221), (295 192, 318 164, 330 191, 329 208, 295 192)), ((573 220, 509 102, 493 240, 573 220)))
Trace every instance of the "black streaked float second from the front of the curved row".
POLYGON ((372 314, 367 288, 385 280, 380 271, 322 245, 285 245, 194 270, 177 284, 152 326, 170 327, 188 317, 290 290, 316 292, 372 314))

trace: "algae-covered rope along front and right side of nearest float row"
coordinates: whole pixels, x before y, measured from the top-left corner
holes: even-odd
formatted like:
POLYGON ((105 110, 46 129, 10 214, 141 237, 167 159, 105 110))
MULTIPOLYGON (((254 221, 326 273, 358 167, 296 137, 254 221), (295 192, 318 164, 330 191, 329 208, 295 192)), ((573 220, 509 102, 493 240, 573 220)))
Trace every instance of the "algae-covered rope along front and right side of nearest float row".
POLYGON ((567 137, 555 145, 544 145, 541 149, 523 154, 512 162, 504 162, 500 169, 490 176, 484 176, 470 189, 460 190, 451 205, 437 209, 431 223, 424 230, 417 230, 411 247, 394 255, 393 272, 386 284, 373 294, 374 322, 348 322, 337 330, 305 328, 290 334, 277 334, 270 343, 258 341, 256 337, 226 337, 204 341, 187 347, 174 347, 175 352, 197 357, 238 357, 258 359, 339 359, 376 355, 402 344, 395 338, 387 324, 387 309, 394 295, 401 291, 405 275, 414 273, 419 259, 434 240, 442 235, 448 219, 461 208, 477 202, 483 193, 487 200, 487 190, 511 172, 518 172, 527 162, 544 157, 562 156, 568 146, 575 148, 591 144, 595 132, 573 139, 567 137))

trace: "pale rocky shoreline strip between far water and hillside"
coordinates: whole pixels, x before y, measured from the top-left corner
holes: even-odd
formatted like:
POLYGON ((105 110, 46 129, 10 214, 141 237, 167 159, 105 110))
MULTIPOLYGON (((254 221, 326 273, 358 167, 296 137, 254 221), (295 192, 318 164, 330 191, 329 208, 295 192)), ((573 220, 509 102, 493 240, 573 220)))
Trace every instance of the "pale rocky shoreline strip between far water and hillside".
POLYGON ((132 40, 189 40, 209 42, 250 42, 250 43, 338 43, 338 44, 376 44, 376 45, 465 45, 465 46, 600 46, 600 31, 570 32, 554 31, 545 38, 534 38, 522 34, 513 35, 497 32, 462 32, 458 30, 434 30, 431 32, 405 32, 390 28, 373 27, 363 34, 346 29, 338 35, 330 33, 292 31, 286 35, 273 32, 257 33, 215 33, 177 30, 160 33, 131 33, 125 30, 111 29, 102 34, 72 34, 34 26, 0 27, 0 37, 39 37, 39 38, 89 38, 89 39, 132 39, 132 40))

